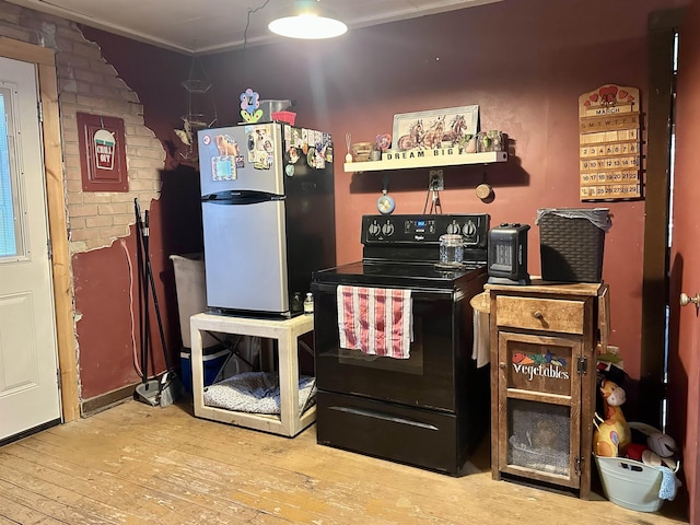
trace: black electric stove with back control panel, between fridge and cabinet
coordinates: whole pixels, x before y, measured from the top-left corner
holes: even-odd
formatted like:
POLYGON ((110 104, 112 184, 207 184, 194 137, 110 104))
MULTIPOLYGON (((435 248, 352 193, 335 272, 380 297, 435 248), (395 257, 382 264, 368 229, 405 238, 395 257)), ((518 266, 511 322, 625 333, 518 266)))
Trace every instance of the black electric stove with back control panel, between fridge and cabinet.
POLYGON ((487 280, 488 230, 487 214, 364 215, 362 260, 314 272, 318 443, 462 474, 489 418, 469 305, 487 280), (459 267, 438 265, 445 233, 463 237, 459 267), (340 284, 411 291, 409 359, 340 347, 340 284))

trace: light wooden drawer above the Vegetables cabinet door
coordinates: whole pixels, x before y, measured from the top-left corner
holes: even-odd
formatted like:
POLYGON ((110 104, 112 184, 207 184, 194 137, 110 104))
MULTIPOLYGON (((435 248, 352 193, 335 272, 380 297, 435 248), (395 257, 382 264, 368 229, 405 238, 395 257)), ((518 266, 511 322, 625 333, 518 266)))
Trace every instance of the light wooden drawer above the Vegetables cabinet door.
POLYGON ((499 295, 495 320, 499 326, 583 334, 584 304, 583 301, 499 295))

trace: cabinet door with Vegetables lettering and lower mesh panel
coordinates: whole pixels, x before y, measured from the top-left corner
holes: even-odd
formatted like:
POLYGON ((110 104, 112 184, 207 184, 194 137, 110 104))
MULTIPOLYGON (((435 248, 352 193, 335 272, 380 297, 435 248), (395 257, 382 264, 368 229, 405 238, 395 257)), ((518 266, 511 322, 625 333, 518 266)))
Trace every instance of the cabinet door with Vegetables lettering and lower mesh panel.
POLYGON ((579 487, 581 338, 499 332, 499 468, 579 487))

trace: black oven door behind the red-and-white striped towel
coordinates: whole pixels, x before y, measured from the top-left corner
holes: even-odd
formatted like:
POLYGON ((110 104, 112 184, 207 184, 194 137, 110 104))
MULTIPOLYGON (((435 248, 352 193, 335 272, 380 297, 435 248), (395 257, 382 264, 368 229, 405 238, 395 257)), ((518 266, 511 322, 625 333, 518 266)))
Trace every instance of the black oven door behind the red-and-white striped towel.
POLYGON ((315 281, 314 350, 318 389, 410 407, 454 412, 456 374, 470 352, 468 301, 454 289, 412 289, 413 339, 409 359, 341 348, 337 284, 315 281))

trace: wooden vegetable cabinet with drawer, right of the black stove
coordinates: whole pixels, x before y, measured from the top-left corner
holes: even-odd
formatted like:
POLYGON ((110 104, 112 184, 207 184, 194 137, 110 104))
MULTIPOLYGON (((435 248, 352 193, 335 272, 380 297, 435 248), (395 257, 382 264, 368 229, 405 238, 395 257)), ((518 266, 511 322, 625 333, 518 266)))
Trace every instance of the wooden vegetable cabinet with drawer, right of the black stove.
POLYGON ((599 283, 487 284, 491 472, 591 489, 599 283))

